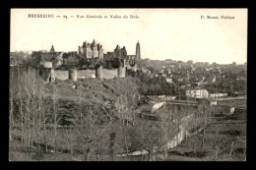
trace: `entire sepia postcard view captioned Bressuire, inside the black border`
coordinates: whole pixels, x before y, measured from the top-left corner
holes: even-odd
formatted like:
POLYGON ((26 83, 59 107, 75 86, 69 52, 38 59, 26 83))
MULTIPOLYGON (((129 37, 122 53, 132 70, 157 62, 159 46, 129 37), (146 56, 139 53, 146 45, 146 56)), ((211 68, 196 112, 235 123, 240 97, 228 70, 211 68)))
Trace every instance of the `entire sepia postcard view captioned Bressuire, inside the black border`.
POLYGON ((246 8, 10 9, 9 161, 246 161, 246 8))

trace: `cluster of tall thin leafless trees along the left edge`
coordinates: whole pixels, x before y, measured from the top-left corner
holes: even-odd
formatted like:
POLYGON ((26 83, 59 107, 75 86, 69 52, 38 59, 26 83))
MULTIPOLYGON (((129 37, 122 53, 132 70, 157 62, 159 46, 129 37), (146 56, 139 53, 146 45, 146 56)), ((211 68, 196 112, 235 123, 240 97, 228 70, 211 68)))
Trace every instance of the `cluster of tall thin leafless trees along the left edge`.
MULTIPOLYGON (((43 81, 33 72, 16 67, 10 70, 9 139, 20 139, 39 148, 40 134, 47 145, 47 127, 57 129, 56 96, 47 96, 43 81)), ((54 139, 56 141, 56 139, 54 139)))

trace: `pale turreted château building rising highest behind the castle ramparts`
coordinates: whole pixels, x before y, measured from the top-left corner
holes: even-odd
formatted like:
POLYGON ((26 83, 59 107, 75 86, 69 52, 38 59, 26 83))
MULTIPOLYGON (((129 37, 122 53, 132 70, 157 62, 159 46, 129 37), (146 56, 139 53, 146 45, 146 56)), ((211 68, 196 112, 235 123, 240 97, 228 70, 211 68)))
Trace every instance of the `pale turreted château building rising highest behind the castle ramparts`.
POLYGON ((80 55, 91 59, 91 58, 99 58, 103 59, 103 49, 102 45, 99 43, 96 44, 96 40, 94 39, 93 43, 89 43, 85 41, 83 46, 78 46, 78 52, 80 55))

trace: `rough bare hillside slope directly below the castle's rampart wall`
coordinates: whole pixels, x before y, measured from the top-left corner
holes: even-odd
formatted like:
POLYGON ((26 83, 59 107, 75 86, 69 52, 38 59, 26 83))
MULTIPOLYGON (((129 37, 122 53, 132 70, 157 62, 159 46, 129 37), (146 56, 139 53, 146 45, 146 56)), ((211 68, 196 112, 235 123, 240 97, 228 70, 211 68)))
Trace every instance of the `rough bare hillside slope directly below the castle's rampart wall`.
POLYGON ((135 79, 131 77, 103 81, 87 79, 77 83, 56 81, 46 87, 50 96, 55 87, 58 106, 64 115, 70 115, 74 106, 81 103, 110 112, 124 111, 136 108, 139 99, 135 79))

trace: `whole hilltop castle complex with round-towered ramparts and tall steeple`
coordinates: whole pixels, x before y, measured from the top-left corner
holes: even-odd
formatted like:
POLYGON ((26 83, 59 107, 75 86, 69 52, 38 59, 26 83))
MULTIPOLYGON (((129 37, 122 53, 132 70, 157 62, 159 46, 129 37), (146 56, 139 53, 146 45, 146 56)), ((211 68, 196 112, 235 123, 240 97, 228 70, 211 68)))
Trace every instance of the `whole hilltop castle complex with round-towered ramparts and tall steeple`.
POLYGON ((101 80, 124 78, 126 70, 137 71, 137 59, 141 59, 139 41, 136 44, 135 55, 127 55, 125 46, 120 48, 119 45, 116 46, 113 52, 104 54, 102 45, 99 43, 96 44, 95 39, 93 43, 85 41, 83 46, 78 46, 78 52, 56 52, 53 45, 48 52, 32 52, 33 66, 39 71, 39 75, 46 83, 54 82, 55 78, 61 80, 71 79, 76 82, 78 77, 84 79, 87 74, 92 75, 91 72, 93 70, 95 73, 93 73, 92 78, 96 77, 101 80), (79 67, 81 63, 82 67, 79 67), (77 69, 80 70, 78 71, 77 69), (60 78, 58 73, 62 73, 63 75, 64 72, 66 75, 64 76, 65 78, 60 78))

